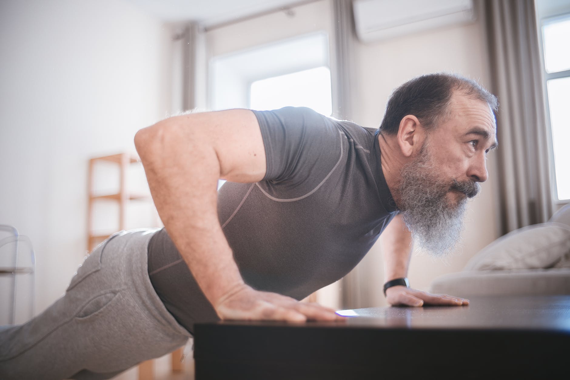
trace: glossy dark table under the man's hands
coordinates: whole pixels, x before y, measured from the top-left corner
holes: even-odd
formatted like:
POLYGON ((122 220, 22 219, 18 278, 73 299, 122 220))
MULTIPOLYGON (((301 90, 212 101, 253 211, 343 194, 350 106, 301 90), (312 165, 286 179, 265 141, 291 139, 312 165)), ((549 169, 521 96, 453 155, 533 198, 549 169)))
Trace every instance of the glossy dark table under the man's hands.
POLYGON ((354 317, 197 324, 196 380, 570 378, 570 296, 340 313, 354 317))

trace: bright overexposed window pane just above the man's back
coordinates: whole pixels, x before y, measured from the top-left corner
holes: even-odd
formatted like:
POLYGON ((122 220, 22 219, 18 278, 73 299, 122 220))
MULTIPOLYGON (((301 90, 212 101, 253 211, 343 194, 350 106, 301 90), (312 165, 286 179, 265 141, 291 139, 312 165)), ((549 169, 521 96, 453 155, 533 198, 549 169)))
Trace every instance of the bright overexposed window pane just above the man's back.
POLYGON ((332 114, 331 70, 321 66, 251 83, 250 108, 309 107, 319 114, 332 114))

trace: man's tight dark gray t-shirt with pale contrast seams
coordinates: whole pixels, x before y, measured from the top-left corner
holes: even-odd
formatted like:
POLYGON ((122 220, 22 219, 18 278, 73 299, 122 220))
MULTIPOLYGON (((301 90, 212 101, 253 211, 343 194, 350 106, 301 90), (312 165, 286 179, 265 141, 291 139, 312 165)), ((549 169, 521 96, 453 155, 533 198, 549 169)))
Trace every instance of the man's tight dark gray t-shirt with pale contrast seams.
MULTIPOLYGON (((218 216, 243 279, 298 300, 345 276, 397 213, 376 130, 309 108, 254 111, 267 172, 225 183, 218 216)), ((150 280, 190 332, 217 319, 165 229, 149 242, 150 280)))

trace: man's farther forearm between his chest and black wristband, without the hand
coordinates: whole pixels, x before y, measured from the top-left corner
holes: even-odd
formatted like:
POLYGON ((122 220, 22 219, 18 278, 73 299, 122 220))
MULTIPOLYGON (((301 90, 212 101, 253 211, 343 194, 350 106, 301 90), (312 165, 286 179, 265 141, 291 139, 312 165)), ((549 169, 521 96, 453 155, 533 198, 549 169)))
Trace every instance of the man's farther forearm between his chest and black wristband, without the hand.
POLYGON ((384 256, 384 282, 407 277, 412 253, 412 234, 406 228, 401 215, 390 221, 380 236, 384 256))

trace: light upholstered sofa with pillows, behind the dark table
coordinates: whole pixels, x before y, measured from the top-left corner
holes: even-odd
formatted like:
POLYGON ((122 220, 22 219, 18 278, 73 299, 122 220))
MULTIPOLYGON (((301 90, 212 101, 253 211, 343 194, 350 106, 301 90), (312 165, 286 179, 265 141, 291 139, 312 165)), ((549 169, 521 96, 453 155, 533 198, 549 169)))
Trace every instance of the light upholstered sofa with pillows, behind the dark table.
POLYGON ((435 278, 429 292, 466 298, 570 294, 570 204, 547 223, 499 237, 461 272, 435 278))

